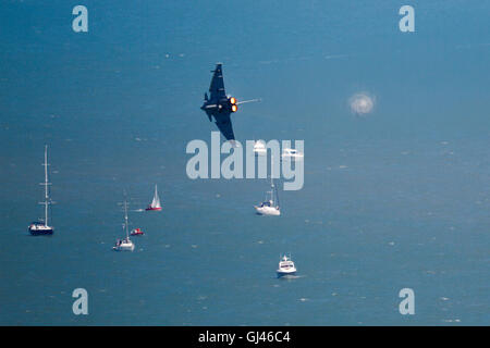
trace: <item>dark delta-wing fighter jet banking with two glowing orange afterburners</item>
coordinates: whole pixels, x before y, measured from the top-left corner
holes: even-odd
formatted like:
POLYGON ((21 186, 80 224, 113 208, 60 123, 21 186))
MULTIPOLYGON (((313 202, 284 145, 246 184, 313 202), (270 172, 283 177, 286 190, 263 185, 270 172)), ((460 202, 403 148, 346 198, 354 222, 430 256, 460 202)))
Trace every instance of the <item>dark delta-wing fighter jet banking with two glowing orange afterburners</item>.
POLYGON ((226 96, 226 92, 224 91, 222 65, 223 64, 221 63, 217 63, 216 69, 211 71, 213 75, 211 85, 209 86, 210 97, 208 98, 208 94, 205 94, 205 102, 200 109, 206 112, 210 122, 212 122, 212 116, 215 116, 216 124, 221 134, 226 140, 232 140, 232 142, 234 142, 235 135, 233 134, 230 115, 233 112, 238 111, 240 104, 259 101, 259 99, 237 101, 235 97, 226 96))

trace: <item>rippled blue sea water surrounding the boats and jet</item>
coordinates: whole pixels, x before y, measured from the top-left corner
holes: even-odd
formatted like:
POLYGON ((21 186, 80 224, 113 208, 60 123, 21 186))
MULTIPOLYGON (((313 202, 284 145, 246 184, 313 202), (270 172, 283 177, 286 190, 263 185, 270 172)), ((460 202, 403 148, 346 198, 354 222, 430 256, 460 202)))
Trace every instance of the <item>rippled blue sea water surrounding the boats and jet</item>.
POLYGON ((413 34, 395 2, 85 3, 86 34, 64 1, 0 14, 1 324, 489 323, 488 3, 416 3, 413 34), (228 92, 262 99, 233 116, 240 140, 305 140, 280 217, 254 213, 267 181, 185 175, 217 61, 228 92), (45 144, 56 234, 32 237, 45 144), (155 184, 163 211, 137 211, 155 184), (124 189, 132 253, 111 250, 124 189), (282 252, 297 277, 277 278, 282 252))

